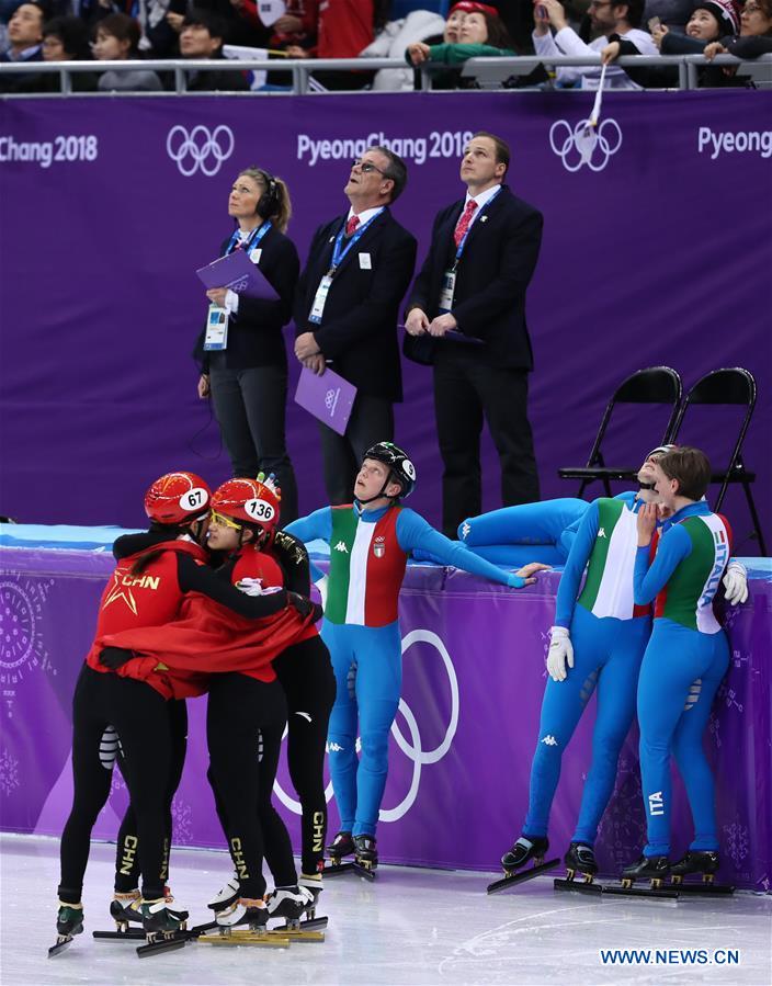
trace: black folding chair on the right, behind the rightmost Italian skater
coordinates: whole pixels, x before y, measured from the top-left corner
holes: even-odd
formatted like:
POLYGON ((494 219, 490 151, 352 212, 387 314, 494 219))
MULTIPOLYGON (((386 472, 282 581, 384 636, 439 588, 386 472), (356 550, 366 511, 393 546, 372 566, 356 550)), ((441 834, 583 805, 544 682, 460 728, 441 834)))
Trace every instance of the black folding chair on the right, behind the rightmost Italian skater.
POLYGON ((767 555, 767 544, 764 543, 764 535, 761 531, 759 514, 750 488, 751 483, 756 481, 756 473, 749 472, 742 462, 742 443, 745 442, 748 426, 753 417, 753 408, 756 407, 756 381, 753 375, 741 366, 725 367, 724 370, 714 370, 712 373, 706 373, 686 394, 673 427, 671 441, 676 442, 678 440, 678 435, 683 428, 683 419, 686 416, 686 411, 696 404, 734 405, 745 406, 746 408, 729 461, 723 468, 714 471, 711 478, 712 483, 722 484, 713 509, 716 513, 722 509, 722 503, 730 483, 741 484, 748 501, 751 520, 753 521, 753 534, 759 542, 761 554, 767 555))

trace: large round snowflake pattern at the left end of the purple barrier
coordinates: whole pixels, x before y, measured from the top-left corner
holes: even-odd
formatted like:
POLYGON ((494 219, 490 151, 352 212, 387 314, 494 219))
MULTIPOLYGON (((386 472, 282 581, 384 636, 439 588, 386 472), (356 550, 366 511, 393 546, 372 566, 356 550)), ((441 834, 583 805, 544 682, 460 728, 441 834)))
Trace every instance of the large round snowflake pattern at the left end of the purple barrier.
POLYGON ((43 639, 43 612, 53 579, 0 573, 0 689, 13 718, 16 688, 33 671, 56 675, 43 639))

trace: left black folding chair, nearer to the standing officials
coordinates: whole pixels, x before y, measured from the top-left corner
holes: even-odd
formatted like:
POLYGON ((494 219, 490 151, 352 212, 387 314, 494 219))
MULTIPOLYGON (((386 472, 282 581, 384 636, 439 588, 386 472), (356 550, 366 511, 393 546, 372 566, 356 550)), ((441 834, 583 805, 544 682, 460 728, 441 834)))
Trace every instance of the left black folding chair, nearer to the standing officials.
POLYGON ((608 497, 612 496, 610 485, 612 479, 635 479, 640 468, 639 463, 635 466, 608 466, 605 464, 601 443, 614 408, 620 404, 665 405, 670 407, 670 417, 660 441, 660 444, 663 445, 670 441, 670 434, 678 418, 678 408, 682 393, 681 377, 670 366, 649 366, 646 370, 638 370, 633 376, 628 376, 624 383, 620 384, 606 405, 587 465, 559 468, 557 471, 558 476, 561 479, 580 480, 578 497, 582 497, 587 486, 595 479, 600 479, 603 483, 605 495, 608 497))

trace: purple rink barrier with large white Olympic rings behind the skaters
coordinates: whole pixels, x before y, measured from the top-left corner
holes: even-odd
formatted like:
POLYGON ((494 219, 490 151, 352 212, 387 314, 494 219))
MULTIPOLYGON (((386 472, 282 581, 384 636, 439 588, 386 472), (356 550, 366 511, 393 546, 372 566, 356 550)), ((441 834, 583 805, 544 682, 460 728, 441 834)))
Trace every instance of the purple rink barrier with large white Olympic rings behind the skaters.
MULTIPOLYGON (((59 835, 71 800, 70 702, 90 646, 109 556, 4 549, 0 574, 0 825, 59 835)), ((731 610, 731 665, 706 745, 717 775, 723 879, 769 891, 772 882, 772 574, 751 573, 750 600, 731 610)), ((764 566, 761 568, 761 566, 764 566)), ((410 566, 400 596, 405 684, 390 740, 379 848, 385 861, 498 868, 520 832, 545 682, 544 658, 559 575, 523 590, 454 569, 410 566)), ((591 707, 563 761, 550 840, 563 852, 589 766, 591 707)), ((205 779, 205 702, 189 702, 190 740, 174 798, 174 841, 224 847, 205 779)), ((277 795, 294 796, 284 763, 277 795)), ((690 838, 680 780, 673 787, 673 852, 690 838)), ((126 807, 116 771, 94 836, 114 839, 126 807)), ((297 816, 284 811, 295 845, 297 816)), ((334 808, 330 828, 336 830, 334 808)), ((599 839, 602 871, 615 873, 643 842, 644 816, 632 730, 599 839)))

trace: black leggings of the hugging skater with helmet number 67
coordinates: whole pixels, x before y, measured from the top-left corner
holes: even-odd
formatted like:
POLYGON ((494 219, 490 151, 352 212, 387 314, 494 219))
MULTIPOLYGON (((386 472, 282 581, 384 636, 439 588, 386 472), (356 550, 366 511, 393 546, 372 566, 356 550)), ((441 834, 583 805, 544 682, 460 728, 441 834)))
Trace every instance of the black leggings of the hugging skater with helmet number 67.
POLYGON ((59 898, 77 904, 83 889, 91 830, 110 795, 112 763, 100 758, 109 726, 121 737, 126 786, 141 846, 143 894, 163 896, 167 790, 171 727, 166 700, 144 681, 94 671, 87 665, 72 700, 72 809, 61 834, 59 898))

